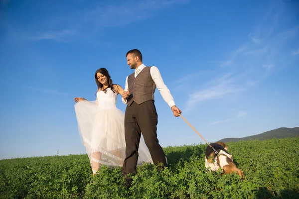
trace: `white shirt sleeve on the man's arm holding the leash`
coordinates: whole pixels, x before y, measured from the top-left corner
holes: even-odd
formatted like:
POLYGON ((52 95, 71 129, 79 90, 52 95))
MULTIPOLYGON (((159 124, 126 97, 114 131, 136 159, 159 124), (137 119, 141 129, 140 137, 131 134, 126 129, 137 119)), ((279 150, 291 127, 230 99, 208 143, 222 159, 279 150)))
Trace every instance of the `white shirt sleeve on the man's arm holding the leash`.
POLYGON ((159 69, 155 66, 150 67, 150 75, 157 89, 161 93, 162 98, 166 101, 166 103, 170 106, 170 108, 174 106, 175 103, 173 97, 171 96, 167 86, 164 84, 159 69))

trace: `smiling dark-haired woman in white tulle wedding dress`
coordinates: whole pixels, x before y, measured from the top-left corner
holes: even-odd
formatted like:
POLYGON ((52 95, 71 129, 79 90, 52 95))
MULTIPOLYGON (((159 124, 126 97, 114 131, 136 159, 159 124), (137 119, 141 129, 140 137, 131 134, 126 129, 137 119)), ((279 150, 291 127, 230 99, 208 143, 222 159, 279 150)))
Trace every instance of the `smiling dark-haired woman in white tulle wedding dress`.
MULTIPOLYGON (((105 68, 96 71, 95 79, 98 86, 96 100, 74 99, 79 135, 86 148, 93 175, 101 165, 122 167, 126 157, 125 115, 116 107, 117 96, 122 95, 124 89, 113 84, 105 68)), ((152 163, 143 137, 138 153, 138 165, 152 163)))

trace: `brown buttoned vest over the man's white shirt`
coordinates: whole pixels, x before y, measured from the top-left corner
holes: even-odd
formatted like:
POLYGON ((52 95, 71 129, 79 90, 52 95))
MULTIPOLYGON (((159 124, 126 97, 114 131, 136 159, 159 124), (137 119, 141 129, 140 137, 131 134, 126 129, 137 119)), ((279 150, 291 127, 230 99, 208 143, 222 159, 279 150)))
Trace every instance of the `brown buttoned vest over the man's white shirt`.
POLYGON ((128 77, 128 87, 130 96, 127 104, 131 105, 133 101, 141 104, 148 100, 154 100, 153 94, 156 88, 150 75, 150 66, 145 67, 135 78, 135 73, 128 77))

